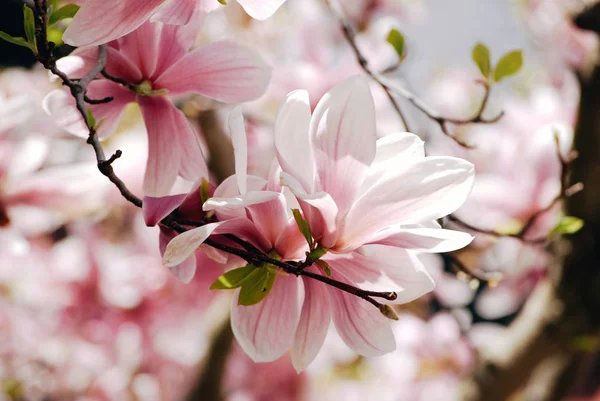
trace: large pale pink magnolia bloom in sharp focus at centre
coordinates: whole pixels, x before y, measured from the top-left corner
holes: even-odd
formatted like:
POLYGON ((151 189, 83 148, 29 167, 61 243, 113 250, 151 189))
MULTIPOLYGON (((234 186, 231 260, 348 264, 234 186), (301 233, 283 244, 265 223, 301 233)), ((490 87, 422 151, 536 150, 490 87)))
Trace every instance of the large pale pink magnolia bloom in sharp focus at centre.
MULTIPOLYGON (((274 166, 269 180, 246 175, 241 116, 234 115, 230 127, 236 175, 203 207, 215 211, 217 221, 171 240, 163 256, 168 267, 185 263, 209 236, 222 240, 221 234, 234 234, 282 261, 303 259, 309 248, 290 210, 299 203, 313 237, 329 251, 321 260, 330 271, 316 264, 307 271, 356 287, 397 291, 398 302, 409 302, 434 286, 417 251, 447 252, 472 239, 433 220, 464 202, 473 166, 456 158, 425 158, 423 142, 409 133, 376 145, 373 100, 364 78, 350 78, 329 91, 312 121, 306 93, 288 96, 275 123, 281 167, 274 166), (280 168, 296 198, 281 187, 280 168)), ((270 283, 270 293, 252 303, 244 287, 236 290, 231 317, 238 342, 253 360, 272 361, 291 348, 301 371, 317 355, 331 321, 361 355, 394 350, 389 320, 363 299, 274 266, 256 269, 270 283)))

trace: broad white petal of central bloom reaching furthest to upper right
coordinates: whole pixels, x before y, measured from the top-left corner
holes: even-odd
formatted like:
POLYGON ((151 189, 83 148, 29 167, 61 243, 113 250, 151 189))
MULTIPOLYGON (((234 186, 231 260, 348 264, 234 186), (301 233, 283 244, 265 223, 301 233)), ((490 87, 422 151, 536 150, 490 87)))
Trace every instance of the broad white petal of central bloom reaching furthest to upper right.
POLYGON ((454 212, 473 186, 474 168, 453 157, 427 157, 387 174, 346 216, 340 248, 352 249, 395 224, 431 221, 454 212))

